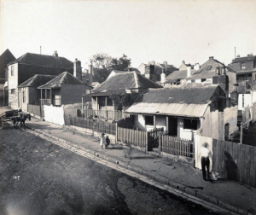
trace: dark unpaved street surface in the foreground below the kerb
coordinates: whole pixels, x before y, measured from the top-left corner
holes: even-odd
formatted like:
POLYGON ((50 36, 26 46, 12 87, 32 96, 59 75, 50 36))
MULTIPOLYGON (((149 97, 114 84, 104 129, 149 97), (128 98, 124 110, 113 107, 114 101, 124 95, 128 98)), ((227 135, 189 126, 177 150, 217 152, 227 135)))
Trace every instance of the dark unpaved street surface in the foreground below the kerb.
POLYGON ((0 131, 0 214, 210 214, 6 125, 0 131))

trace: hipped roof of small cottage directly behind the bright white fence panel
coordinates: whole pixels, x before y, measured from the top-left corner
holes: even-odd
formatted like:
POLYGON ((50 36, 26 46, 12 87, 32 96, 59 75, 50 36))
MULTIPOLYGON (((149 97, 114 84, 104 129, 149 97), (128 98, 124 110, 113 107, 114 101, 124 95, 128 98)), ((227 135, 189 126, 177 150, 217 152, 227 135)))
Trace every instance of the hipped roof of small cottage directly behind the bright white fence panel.
MULTIPOLYGON (((61 84, 84 84, 78 78, 74 77, 71 73, 61 73, 57 77, 53 78, 46 84, 39 86, 38 89, 60 88, 61 84)), ((91 87, 90 87, 91 88, 91 87)))

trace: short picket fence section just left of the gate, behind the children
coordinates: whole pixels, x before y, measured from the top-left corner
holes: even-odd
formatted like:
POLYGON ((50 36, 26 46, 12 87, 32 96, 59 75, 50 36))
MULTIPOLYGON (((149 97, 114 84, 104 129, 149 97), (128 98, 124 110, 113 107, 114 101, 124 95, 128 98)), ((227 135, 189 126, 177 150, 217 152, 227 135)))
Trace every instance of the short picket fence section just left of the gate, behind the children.
POLYGON ((132 143, 139 147, 146 147, 148 144, 148 132, 118 127, 118 140, 132 143))

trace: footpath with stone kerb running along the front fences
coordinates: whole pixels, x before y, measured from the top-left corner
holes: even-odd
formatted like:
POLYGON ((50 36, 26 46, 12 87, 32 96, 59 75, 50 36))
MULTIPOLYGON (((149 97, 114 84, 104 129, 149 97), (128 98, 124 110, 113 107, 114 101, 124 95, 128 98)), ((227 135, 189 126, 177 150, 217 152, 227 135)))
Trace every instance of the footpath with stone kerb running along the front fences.
POLYGON ((144 154, 125 144, 112 144, 108 149, 102 149, 98 137, 71 131, 67 127, 34 117, 31 121, 26 121, 26 127, 73 148, 84 150, 105 163, 111 162, 112 167, 118 171, 121 167, 125 168, 126 171, 123 172, 126 174, 213 212, 256 214, 256 188, 247 184, 225 178, 204 181, 201 171, 192 166, 144 154))

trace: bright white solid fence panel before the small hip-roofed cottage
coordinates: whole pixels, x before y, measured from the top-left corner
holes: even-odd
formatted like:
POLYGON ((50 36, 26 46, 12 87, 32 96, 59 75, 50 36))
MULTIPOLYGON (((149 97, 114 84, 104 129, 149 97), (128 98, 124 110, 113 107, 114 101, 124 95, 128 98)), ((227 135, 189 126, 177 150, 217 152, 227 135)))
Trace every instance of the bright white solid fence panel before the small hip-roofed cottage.
POLYGON ((44 120, 56 125, 64 125, 64 108, 44 105, 44 120))

